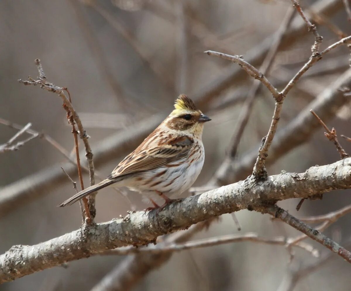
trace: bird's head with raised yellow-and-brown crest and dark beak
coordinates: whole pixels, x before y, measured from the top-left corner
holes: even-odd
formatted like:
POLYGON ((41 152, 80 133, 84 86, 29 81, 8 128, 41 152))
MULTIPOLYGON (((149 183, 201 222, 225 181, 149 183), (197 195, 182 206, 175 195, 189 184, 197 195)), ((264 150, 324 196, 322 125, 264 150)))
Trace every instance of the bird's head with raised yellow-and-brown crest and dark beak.
POLYGON ((198 110, 194 102, 184 94, 174 103, 174 110, 165 120, 165 125, 173 130, 201 138, 204 123, 211 119, 198 110))

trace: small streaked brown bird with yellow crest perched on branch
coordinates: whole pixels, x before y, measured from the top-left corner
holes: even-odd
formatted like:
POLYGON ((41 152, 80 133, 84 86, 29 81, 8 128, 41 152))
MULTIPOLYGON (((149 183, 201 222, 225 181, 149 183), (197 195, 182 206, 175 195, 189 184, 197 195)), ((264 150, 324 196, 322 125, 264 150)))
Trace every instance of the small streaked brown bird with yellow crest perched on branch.
MULTIPOLYGON (((157 193, 165 203, 147 210, 163 209, 173 199, 166 194, 188 190, 199 176, 205 151, 201 140, 204 123, 211 119, 181 94, 170 115, 100 183, 80 191, 59 206, 71 205, 113 184, 147 194, 157 193)), ((150 195, 149 195, 150 197, 150 195)))

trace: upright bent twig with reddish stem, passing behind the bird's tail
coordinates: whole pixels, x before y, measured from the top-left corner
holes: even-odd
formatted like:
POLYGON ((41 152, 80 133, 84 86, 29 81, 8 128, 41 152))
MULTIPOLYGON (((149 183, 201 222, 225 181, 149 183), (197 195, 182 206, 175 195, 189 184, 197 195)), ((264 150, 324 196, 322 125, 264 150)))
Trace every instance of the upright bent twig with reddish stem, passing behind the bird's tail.
MULTIPOLYGON (((41 65, 39 59, 35 60, 35 65, 37 65, 38 72, 39 72, 39 77, 37 80, 34 80, 31 77, 28 77, 29 81, 23 81, 23 80, 18 80, 18 81, 20 83, 23 83, 24 85, 33 85, 33 86, 40 85, 40 88, 45 89, 49 92, 56 93, 61 97, 61 99, 64 102, 64 108, 66 109, 67 113, 69 112, 68 118, 70 118, 70 116, 69 116, 70 114, 72 115, 72 119, 70 119, 70 120, 71 120, 71 125, 73 126, 73 134, 74 133, 78 134, 77 131, 75 130, 75 126, 74 126, 74 123, 77 124, 78 130, 79 130, 79 137, 83 141, 83 144, 85 147, 85 152, 86 152, 85 156, 86 156, 87 161, 88 161, 90 185, 94 185, 95 178, 94 178, 93 153, 91 151, 90 144, 88 142, 88 135, 86 134, 86 132, 82 126, 82 123, 79 119, 77 112, 75 112, 75 110, 71 104, 71 101, 69 100, 69 99, 71 99, 71 97, 69 96, 69 98, 67 98, 67 96, 65 95, 64 91, 68 92, 66 88, 61 88, 61 87, 55 86, 54 84, 49 83, 47 81, 44 70, 42 68, 42 65, 41 65), (73 121, 74 121, 74 123, 73 123, 73 121)), ((68 93, 68 95, 69 95, 69 93, 68 93)), ((81 187, 83 187, 83 189, 84 189, 84 186, 82 185, 81 168, 80 168, 79 153, 78 153, 78 140, 77 140, 76 135, 75 135, 75 148, 76 148, 76 153, 77 153, 77 167, 78 167, 78 173, 79 173, 80 180, 81 180, 81 187)), ((89 209, 88 212, 90 213, 91 217, 94 218, 95 213, 96 213, 95 196, 91 195, 89 197, 89 206, 87 205, 88 204, 87 200, 84 200, 83 203, 85 205, 86 210, 89 209)), ((89 215, 88 212, 86 213, 86 217, 87 217, 87 220, 89 222, 91 222, 92 220, 88 217, 88 215, 89 215)))

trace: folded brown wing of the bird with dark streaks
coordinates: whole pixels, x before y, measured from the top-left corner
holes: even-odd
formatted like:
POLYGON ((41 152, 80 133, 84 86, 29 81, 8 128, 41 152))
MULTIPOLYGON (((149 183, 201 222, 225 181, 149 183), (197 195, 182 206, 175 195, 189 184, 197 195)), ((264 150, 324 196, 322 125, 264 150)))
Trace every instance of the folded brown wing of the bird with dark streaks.
POLYGON ((137 148, 112 171, 110 177, 152 170, 186 156, 194 141, 181 136, 147 149, 137 148))

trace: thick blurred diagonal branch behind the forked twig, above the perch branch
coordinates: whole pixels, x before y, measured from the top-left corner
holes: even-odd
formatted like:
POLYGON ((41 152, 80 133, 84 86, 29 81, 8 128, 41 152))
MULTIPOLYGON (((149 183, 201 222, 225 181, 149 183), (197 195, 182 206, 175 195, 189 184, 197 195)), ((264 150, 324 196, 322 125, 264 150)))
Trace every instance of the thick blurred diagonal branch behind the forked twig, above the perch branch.
MULTIPOLYGON (((332 85, 326 88, 315 100, 307 106, 319 113, 323 120, 335 117, 336 112, 350 100, 350 97, 340 92, 340 87, 349 86, 351 82, 351 70, 347 70, 332 85)), ((320 125, 305 109, 300 112, 285 128, 276 135, 275 142, 271 146, 270 159, 267 163, 271 164, 292 148, 307 142, 312 133, 320 125)), ((231 159, 226 159, 216 171, 215 177, 209 185, 226 185, 239 179, 245 179, 252 170, 252 164, 257 158, 257 151, 251 151, 244 155, 235 163, 231 159)))

